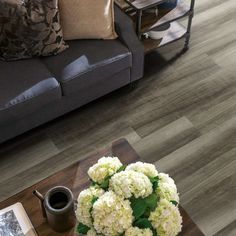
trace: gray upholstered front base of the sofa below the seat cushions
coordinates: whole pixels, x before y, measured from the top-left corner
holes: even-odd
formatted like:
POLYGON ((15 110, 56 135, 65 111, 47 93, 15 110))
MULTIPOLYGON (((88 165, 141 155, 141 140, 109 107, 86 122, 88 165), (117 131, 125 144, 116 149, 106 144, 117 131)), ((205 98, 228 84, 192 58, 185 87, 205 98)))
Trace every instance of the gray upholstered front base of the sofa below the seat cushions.
POLYGON ((107 78, 106 80, 104 79, 99 88, 93 86, 89 92, 83 91, 82 93, 63 96, 60 100, 56 100, 44 107, 41 107, 38 112, 27 114, 17 121, 0 122, 0 143, 126 85, 129 76, 130 69, 125 69, 113 75, 111 78, 107 78))

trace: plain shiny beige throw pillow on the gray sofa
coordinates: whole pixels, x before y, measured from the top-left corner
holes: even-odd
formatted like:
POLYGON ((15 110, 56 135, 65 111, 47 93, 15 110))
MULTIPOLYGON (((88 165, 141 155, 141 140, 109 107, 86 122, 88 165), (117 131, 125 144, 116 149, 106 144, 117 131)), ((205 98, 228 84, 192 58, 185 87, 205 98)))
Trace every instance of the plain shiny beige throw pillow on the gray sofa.
POLYGON ((59 0, 65 40, 115 39, 114 0, 59 0))

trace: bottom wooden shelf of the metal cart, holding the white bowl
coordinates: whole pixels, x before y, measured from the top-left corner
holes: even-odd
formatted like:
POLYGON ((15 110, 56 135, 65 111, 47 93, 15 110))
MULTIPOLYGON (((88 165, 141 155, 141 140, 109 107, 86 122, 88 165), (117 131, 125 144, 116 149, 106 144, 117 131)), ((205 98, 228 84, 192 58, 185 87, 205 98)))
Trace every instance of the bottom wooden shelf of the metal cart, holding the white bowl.
POLYGON ((165 46, 169 43, 177 41, 186 36, 187 29, 178 22, 172 22, 171 27, 168 30, 166 36, 160 40, 154 39, 142 39, 145 53, 148 53, 154 49, 165 46))

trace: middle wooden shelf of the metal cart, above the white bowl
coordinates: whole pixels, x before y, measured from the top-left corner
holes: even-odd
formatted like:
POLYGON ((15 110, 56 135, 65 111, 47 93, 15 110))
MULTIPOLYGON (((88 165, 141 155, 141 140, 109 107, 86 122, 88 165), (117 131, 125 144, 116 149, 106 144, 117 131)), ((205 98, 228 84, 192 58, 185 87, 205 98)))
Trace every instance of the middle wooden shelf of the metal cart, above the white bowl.
POLYGON ((159 10, 158 16, 154 13, 143 13, 141 33, 148 32, 167 22, 172 22, 189 15, 190 7, 184 2, 180 2, 173 10, 159 10))

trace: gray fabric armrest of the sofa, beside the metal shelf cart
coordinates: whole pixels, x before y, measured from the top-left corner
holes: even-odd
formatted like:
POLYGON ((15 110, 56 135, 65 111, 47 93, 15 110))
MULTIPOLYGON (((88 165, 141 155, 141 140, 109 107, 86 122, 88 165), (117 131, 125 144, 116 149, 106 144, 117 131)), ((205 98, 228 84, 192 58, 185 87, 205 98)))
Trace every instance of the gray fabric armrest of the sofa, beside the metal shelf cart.
POLYGON ((132 20, 116 5, 115 27, 119 40, 132 53, 131 81, 138 80, 144 71, 144 48, 134 31, 132 20))

